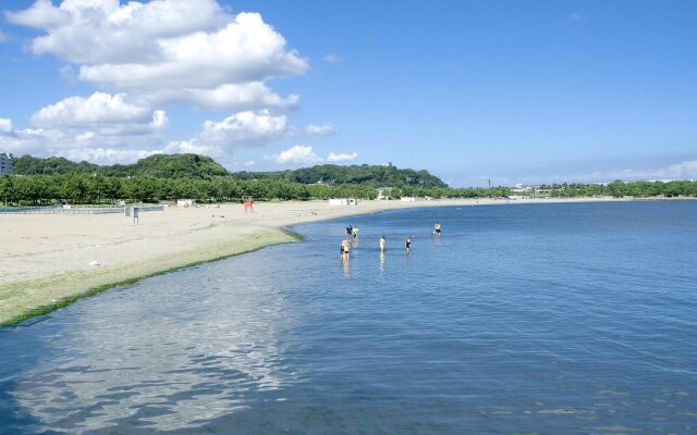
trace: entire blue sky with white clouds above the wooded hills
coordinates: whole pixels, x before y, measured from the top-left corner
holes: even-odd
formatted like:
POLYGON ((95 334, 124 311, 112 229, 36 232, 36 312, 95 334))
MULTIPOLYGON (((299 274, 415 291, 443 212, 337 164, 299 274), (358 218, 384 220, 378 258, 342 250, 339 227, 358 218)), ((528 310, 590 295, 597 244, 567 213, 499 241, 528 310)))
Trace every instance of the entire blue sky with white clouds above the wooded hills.
POLYGON ((697 178, 694 1, 48 3, 1 5, 15 154, 390 161, 454 186, 697 178))

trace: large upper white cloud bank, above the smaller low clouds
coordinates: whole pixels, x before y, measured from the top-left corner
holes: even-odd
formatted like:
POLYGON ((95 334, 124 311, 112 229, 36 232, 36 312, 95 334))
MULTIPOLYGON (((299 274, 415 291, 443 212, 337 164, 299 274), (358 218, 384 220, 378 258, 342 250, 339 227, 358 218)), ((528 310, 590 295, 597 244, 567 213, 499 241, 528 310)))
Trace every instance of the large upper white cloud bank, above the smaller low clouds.
POLYGON ((64 0, 59 7, 39 0, 5 15, 46 32, 32 41, 35 54, 77 64, 78 79, 154 104, 292 108, 298 97, 280 97, 266 82, 308 70, 261 15, 230 15, 213 0, 64 0))

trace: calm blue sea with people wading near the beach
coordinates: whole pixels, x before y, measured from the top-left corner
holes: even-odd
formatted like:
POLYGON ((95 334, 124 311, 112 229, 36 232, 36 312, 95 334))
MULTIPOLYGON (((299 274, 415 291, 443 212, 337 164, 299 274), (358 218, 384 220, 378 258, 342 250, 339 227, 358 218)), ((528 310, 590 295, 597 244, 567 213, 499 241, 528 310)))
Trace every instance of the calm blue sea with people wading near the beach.
POLYGON ((0 330, 0 433, 697 433, 697 202, 295 229, 0 330))

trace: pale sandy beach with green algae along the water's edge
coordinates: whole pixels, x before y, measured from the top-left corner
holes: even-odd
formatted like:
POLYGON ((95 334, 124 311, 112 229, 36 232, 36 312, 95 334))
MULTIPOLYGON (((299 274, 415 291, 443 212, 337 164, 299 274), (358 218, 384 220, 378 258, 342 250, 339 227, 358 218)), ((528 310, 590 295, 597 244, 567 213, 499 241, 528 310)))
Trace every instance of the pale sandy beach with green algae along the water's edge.
POLYGON ((688 198, 443 199, 428 201, 261 202, 168 208, 125 226, 121 215, 1 215, 0 327, 44 315, 110 288, 302 240, 288 227, 387 210, 449 206, 694 200, 688 198))

